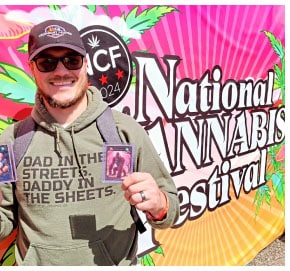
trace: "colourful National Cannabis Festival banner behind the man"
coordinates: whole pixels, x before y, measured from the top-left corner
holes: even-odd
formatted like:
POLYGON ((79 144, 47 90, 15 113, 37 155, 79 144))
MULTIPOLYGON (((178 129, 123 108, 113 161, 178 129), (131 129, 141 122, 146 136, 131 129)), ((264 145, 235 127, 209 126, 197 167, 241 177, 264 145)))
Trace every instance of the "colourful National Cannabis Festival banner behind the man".
POLYGON ((46 19, 80 30, 90 83, 174 178, 180 218, 140 234, 142 265, 246 265, 284 232, 285 6, 2 5, 0 133, 34 105, 27 39, 46 19))

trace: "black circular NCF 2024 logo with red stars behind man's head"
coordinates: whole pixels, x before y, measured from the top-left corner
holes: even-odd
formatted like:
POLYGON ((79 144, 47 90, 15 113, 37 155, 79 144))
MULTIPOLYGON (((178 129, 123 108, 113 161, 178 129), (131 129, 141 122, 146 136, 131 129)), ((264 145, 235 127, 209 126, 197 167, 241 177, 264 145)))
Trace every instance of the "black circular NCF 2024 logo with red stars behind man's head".
POLYGON ((112 29, 100 25, 80 31, 88 58, 88 78, 110 106, 127 93, 132 78, 130 52, 122 38, 112 29))

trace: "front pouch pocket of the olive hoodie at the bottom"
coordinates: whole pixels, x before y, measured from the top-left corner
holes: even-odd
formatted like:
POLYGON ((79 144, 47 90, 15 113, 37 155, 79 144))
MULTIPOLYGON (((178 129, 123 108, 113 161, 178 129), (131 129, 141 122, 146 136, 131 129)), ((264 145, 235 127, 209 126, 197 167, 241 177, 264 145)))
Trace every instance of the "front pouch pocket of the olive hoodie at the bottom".
POLYGON ((31 243, 22 265, 115 265, 103 241, 87 245, 57 247, 31 243))

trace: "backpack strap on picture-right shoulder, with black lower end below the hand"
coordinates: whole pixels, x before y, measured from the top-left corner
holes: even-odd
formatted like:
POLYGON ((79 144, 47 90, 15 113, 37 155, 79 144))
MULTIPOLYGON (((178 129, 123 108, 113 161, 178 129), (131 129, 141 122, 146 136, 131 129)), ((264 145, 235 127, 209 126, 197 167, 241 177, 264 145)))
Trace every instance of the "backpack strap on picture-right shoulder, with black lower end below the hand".
MULTIPOLYGON (((108 142, 111 144, 122 144, 116 125, 111 125, 115 123, 115 120, 113 118, 112 110, 109 106, 107 106, 105 111, 97 118, 96 123, 99 129, 99 132, 101 133, 105 142, 108 142)), ((140 233, 145 232, 146 227, 144 226, 141 218, 139 217, 135 206, 131 205, 130 213, 136 224, 138 231, 140 233)))

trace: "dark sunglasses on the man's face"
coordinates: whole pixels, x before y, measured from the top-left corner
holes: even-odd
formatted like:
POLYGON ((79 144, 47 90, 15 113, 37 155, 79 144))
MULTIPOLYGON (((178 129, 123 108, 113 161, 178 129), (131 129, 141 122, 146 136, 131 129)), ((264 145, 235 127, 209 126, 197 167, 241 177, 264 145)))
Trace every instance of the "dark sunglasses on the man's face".
POLYGON ((64 57, 39 56, 32 61, 35 62, 40 72, 52 72, 56 69, 59 61, 68 70, 78 70, 83 66, 83 58, 82 55, 69 55, 64 57))

